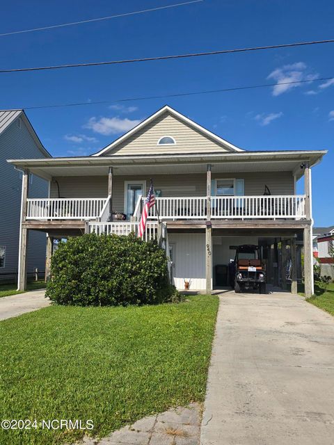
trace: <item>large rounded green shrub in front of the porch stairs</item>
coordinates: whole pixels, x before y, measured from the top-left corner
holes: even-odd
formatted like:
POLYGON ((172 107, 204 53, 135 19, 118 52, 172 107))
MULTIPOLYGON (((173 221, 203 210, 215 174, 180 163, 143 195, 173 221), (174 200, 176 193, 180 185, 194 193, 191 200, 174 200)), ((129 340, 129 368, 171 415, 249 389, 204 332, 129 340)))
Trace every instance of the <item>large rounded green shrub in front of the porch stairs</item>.
POLYGON ((86 234, 61 242, 46 296, 60 305, 146 305, 175 298, 167 258, 156 242, 86 234))

